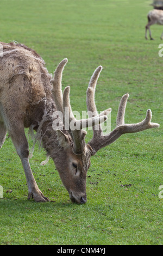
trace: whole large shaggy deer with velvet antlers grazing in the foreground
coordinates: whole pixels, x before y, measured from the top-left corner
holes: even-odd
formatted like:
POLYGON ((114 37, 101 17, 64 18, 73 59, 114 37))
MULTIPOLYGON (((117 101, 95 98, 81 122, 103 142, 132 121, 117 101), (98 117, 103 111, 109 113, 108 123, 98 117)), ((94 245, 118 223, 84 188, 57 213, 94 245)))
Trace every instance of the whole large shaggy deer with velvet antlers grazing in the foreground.
POLYGON ((8 131, 26 174, 28 199, 33 197, 36 202, 49 201, 39 190, 29 165, 24 127, 32 127, 37 131, 36 135, 40 136, 47 155, 54 160, 71 201, 86 203, 86 173, 90 167, 91 156, 124 133, 159 127, 159 124, 151 123, 150 109, 140 123, 125 124, 124 113, 129 96, 125 94, 118 108, 116 128, 103 136, 101 123, 106 120, 106 115, 111 109, 106 109, 99 115, 96 110, 95 88, 102 66, 93 73, 86 92, 89 119, 76 120, 70 106, 70 87, 66 87, 63 94, 61 91, 62 71, 67 59, 59 63, 52 77, 35 51, 15 42, 1 44, 3 53, 0 57, 0 148, 8 131), (64 115, 66 108, 69 112, 68 120, 64 115), (59 127, 63 126, 62 130, 52 127, 56 118, 53 113, 57 110, 64 115, 64 125, 61 120, 58 121, 59 127), (80 130, 66 130, 67 121, 78 124, 80 130), (83 129, 88 127, 89 123, 93 126, 93 137, 86 144, 86 131, 83 129))

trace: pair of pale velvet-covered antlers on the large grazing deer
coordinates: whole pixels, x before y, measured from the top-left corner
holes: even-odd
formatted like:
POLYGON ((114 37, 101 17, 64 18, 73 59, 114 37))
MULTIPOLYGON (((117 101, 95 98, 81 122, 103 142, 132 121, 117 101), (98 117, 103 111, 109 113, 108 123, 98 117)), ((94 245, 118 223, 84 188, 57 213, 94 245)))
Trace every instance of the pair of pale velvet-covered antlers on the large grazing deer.
POLYGON ((151 109, 147 110, 146 118, 137 124, 125 124, 124 114, 126 110, 127 99, 129 94, 124 94, 120 106, 118 108, 116 128, 109 133, 109 135, 103 136, 103 131, 101 123, 103 123, 111 112, 111 108, 106 109, 101 114, 98 114, 95 104, 95 89, 99 74, 102 70, 102 66, 99 66, 93 73, 91 80, 89 82, 89 87, 86 92, 86 105, 89 113, 88 119, 77 120, 71 109, 70 105, 70 87, 66 87, 62 95, 61 90, 61 78, 64 66, 67 63, 67 59, 62 60, 57 69, 54 72, 54 77, 51 80, 53 84, 53 94, 55 103, 57 105, 58 111, 61 111, 64 116, 64 125, 68 130, 73 142, 73 151, 75 154, 82 154, 85 148, 85 135, 86 131, 82 130, 86 127, 93 127, 93 138, 88 143, 92 148, 92 155, 94 155, 99 149, 106 147, 112 142, 116 141, 124 133, 139 132, 146 129, 159 127, 159 124, 151 123, 152 112, 151 109))

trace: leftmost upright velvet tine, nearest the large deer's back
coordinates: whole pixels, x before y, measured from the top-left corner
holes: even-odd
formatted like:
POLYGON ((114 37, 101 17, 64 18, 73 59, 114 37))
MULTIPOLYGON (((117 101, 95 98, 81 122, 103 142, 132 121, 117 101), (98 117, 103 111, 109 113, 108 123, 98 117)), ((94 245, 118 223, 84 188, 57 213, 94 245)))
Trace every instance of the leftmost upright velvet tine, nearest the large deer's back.
POLYGON ((58 111, 61 111, 62 114, 64 114, 64 109, 63 109, 63 102, 62 102, 61 80, 62 80, 62 72, 63 72, 64 67, 67 62, 68 62, 68 59, 65 58, 59 63, 59 65, 57 66, 57 69, 54 71, 54 76, 51 80, 51 82, 53 84, 52 91, 53 91, 53 95, 54 95, 54 101, 55 101, 58 111))

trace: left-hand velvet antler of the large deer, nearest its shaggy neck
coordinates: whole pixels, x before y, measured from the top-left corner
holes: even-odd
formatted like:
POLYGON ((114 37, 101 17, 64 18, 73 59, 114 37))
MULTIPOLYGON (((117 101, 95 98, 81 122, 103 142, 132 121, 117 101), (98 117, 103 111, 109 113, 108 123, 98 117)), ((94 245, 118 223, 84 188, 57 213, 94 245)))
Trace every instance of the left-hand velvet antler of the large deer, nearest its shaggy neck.
POLYGON ((63 95, 61 90, 62 71, 64 70, 64 66, 66 65, 67 61, 67 59, 64 59, 59 63, 51 82, 53 84, 55 104, 58 111, 62 112, 64 116, 65 130, 69 131, 74 142, 73 151, 75 154, 82 154, 85 148, 84 138, 87 133, 82 129, 103 123, 107 119, 106 115, 108 114, 108 109, 101 114, 96 115, 96 117, 91 117, 88 119, 77 120, 74 117, 70 105, 70 87, 67 86, 65 88, 63 95))

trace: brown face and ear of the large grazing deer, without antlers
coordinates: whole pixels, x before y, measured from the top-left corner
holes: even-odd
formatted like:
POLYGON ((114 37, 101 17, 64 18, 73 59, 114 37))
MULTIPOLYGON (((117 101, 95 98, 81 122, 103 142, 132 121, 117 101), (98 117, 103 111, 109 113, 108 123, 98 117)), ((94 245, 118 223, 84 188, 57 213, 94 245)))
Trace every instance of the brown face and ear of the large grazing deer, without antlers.
POLYGON ((70 139, 60 130, 58 133, 59 146, 62 147, 62 162, 55 165, 62 183, 66 187, 73 203, 86 203, 86 173, 90 167, 90 149, 85 146, 83 153, 76 155, 70 139))

